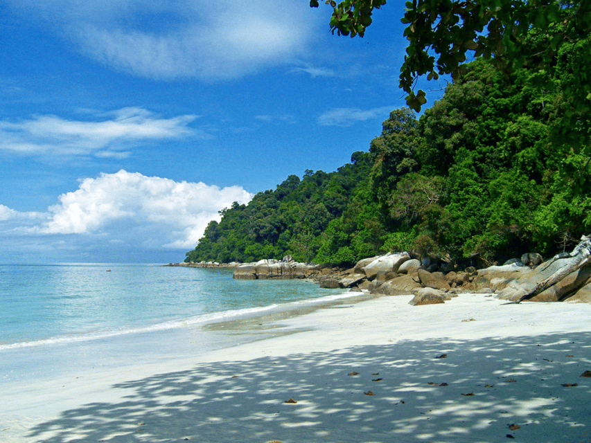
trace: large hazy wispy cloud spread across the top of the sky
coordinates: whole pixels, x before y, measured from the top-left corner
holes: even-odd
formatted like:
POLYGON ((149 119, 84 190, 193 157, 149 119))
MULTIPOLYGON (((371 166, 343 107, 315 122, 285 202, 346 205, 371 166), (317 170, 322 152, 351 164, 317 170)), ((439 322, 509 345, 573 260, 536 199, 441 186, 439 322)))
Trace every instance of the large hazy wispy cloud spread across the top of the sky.
POLYGON ((11 0, 85 55, 147 78, 237 78, 304 53, 321 19, 301 0, 11 0))

